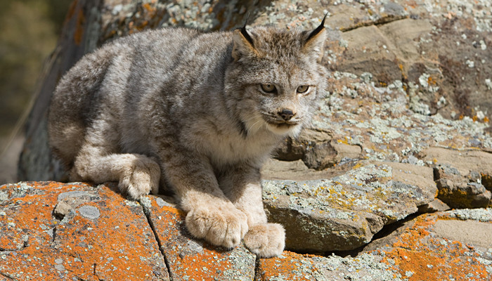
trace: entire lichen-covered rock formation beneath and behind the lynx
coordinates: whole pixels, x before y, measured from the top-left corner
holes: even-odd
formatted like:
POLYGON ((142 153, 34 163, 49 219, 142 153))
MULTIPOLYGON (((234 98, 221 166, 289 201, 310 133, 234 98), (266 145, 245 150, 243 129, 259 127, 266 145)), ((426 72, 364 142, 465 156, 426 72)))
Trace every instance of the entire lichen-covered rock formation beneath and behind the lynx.
POLYGON ((257 259, 193 240, 164 197, 18 183, 0 188, 0 278, 491 280, 491 9, 488 0, 74 1, 26 126, 21 180, 65 178, 48 150, 47 105, 63 73, 105 41, 167 26, 231 30, 247 14, 249 25, 311 29, 327 15, 328 89, 311 127, 262 171, 269 219, 285 226, 290 251, 257 259))

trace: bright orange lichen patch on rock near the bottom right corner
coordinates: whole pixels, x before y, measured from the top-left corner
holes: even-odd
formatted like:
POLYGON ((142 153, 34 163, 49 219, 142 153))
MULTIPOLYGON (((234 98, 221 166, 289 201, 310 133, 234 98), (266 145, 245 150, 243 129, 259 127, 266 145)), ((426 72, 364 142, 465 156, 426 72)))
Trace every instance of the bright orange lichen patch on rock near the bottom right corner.
POLYGON ((384 253, 382 261, 406 280, 488 280, 484 265, 461 242, 430 235, 435 215, 417 218, 384 253))

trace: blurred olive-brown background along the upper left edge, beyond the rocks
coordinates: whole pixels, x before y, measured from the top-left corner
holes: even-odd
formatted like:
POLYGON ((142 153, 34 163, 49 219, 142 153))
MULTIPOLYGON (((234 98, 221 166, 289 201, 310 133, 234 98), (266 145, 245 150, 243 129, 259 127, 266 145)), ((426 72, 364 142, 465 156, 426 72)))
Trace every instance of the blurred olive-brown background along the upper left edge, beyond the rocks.
POLYGON ((71 2, 0 0, 0 184, 17 181, 22 115, 71 2))

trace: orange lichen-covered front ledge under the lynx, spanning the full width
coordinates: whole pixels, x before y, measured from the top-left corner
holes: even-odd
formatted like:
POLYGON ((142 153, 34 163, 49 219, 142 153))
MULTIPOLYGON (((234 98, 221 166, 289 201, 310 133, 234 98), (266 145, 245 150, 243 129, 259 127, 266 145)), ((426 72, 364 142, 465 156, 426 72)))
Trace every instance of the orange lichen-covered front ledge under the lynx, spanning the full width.
POLYGON ((357 256, 191 239, 167 197, 125 200, 114 185, 0 186, 0 280, 490 280, 492 209, 422 214, 357 256), (466 231, 462 231, 466 229, 466 231), (170 279, 172 278, 172 279, 170 279))

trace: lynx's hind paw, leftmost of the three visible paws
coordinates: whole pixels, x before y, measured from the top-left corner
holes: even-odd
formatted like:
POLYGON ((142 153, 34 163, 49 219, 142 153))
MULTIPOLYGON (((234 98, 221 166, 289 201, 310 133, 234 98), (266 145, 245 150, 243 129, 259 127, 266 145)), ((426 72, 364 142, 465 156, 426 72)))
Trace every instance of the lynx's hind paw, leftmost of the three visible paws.
POLYGON ((150 192, 159 192, 160 167, 149 157, 136 157, 131 165, 124 170, 119 180, 120 191, 134 200, 148 195, 150 192))

